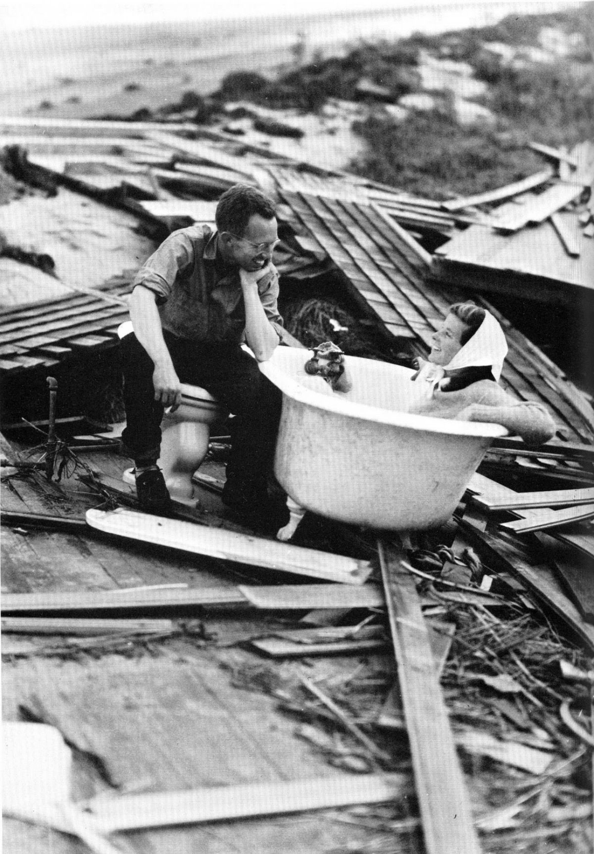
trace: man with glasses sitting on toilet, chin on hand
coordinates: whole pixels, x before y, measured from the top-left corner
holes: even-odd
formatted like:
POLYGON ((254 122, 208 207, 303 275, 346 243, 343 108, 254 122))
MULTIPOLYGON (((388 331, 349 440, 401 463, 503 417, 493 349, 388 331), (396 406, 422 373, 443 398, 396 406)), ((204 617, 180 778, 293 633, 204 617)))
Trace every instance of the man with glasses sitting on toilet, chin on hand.
POLYGON ((285 524, 282 500, 268 494, 281 393, 256 361, 271 358, 282 318, 277 309, 278 243, 271 200, 247 184, 221 196, 217 230, 174 231, 138 271, 130 301, 134 332, 122 339, 125 447, 135 462, 143 510, 170 510, 157 459, 166 407, 180 383, 199 385, 235 415, 223 500, 253 527, 285 524))

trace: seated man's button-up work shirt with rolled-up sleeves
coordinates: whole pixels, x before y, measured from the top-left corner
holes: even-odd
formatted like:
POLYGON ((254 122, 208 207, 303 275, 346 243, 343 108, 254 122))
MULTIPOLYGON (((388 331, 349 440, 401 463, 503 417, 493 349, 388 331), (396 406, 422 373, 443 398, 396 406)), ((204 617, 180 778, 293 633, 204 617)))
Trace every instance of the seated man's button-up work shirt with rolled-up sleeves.
MULTIPOLYGON (((137 272, 156 295, 164 330, 179 338, 239 344, 244 340, 246 314, 237 267, 217 257, 218 233, 207 225, 174 231, 137 272)), ((260 302, 281 335, 278 313, 278 272, 271 265, 258 282, 260 302)))

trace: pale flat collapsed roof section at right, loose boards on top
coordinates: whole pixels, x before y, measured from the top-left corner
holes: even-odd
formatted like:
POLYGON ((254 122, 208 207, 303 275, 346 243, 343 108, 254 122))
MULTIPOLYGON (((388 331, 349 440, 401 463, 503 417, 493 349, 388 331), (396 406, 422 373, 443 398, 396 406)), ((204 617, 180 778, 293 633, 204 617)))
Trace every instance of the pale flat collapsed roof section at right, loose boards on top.
POLYGON ((442 207, 467 210, 492 201, 491 224, 471 225, 435 252, 434 273, 486 293, 574 306, 594 298, 594 143, 568 154, 534 143, 554 161, 530 181, 442 207), (507 192, 506 192, 507 190, 507 192), (503 194, 503 195, 502 195, 503 194))

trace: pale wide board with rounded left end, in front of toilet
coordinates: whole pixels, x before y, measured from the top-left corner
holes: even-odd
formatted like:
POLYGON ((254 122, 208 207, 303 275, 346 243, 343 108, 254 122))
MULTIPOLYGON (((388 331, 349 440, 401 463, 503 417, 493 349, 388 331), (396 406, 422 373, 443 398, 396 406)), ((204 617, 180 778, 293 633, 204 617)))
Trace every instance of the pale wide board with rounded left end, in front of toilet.
POLYGON ((367 560, 317 552, 312 548, 137 513, 121 507, 111 511, 89 510, 86 520, 92 528, 107 534, 267 570, 291 572, 344 584, 363 584, 371 573, 371 564, 367 560))

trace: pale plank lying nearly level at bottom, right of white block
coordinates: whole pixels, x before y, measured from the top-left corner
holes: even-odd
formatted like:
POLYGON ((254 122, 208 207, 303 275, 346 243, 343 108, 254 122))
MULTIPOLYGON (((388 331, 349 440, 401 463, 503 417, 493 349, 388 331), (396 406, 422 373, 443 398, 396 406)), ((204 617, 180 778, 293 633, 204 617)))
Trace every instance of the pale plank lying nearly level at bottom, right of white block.
MULTIPOLYGON (((377 804, 402 798, 407 783, 408 777, 404 774, 340 775, 291 782, 121 795, 117 798, 93 798, 87 816, 91 827, 109 834, 195 822, 328 810, 354 804, 377 804)), ((461 848, 459 854, 467 848, 461 848)))

